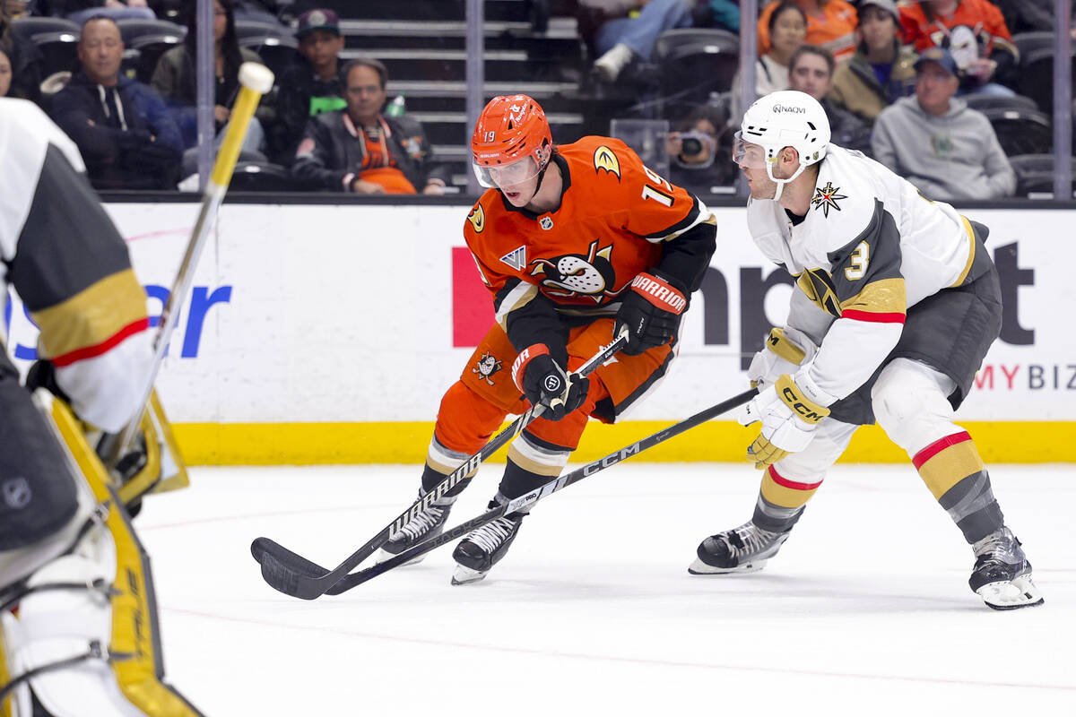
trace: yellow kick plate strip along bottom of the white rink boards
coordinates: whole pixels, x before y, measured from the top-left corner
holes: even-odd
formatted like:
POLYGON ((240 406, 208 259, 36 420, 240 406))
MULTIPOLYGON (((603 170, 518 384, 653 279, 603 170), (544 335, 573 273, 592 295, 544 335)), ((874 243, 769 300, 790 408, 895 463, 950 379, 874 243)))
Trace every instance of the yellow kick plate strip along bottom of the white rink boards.
MULTIPOLYGON (((675 421, 591 421, 572 462, 587 462, 650 435, 675 421)), ((1076 421, 991 421, 961 426, 990 463, 1076 462, 1076 421)), ((176 424, 188 465, 315 463, 411 463, 425 460, 433 422, 370 424, 176 424)), ((655 446, 640 461, 744 460, 758 428, 710 421, 655 446)), ((496 457, 504 461, 505 450, 496 457)), ((877 426, 856 431, 841 458, 846 463, 910 463, 877 426)))

